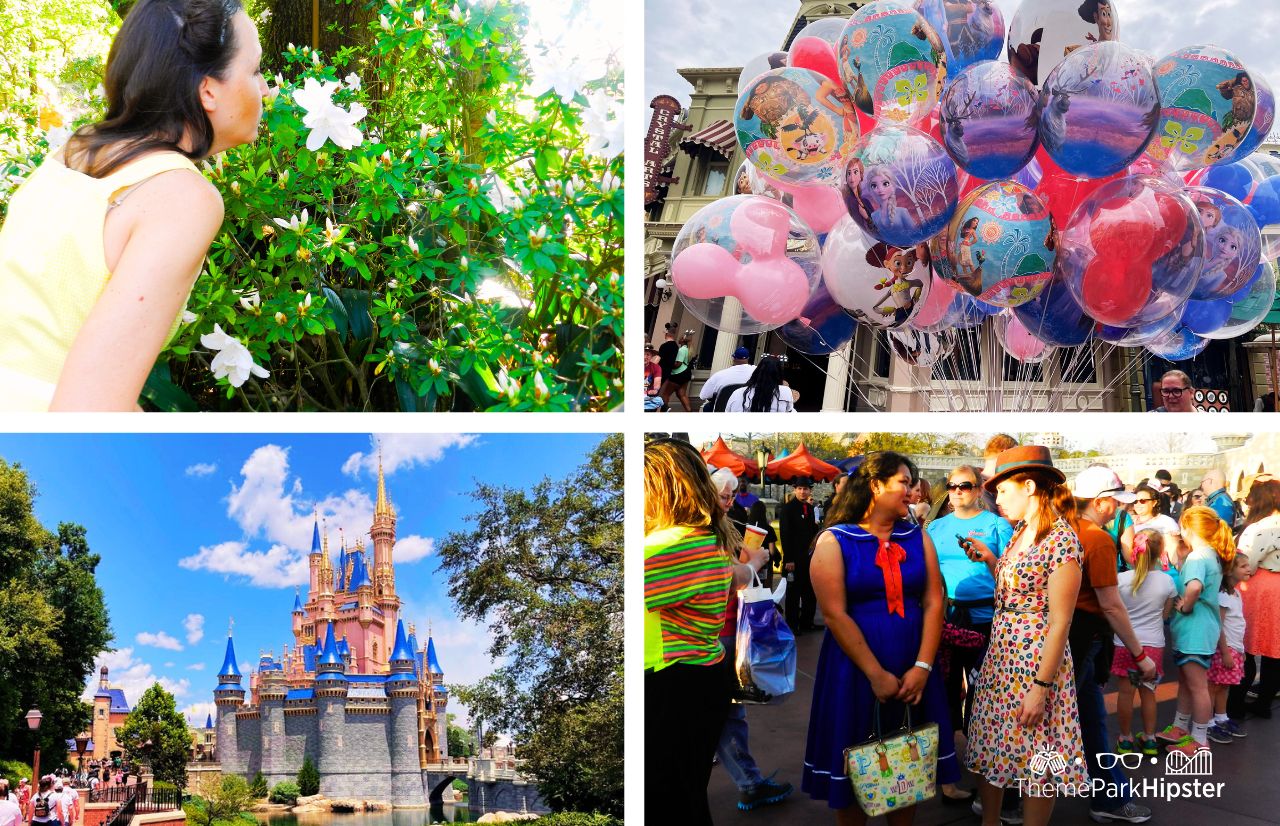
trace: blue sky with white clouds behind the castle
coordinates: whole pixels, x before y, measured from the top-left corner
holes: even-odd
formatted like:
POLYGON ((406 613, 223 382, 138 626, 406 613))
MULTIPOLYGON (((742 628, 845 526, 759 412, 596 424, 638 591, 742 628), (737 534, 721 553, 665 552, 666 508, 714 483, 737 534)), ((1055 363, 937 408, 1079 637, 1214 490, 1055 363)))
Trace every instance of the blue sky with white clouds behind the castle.
MULTIPOLYGON (((293 642, 294 585, 307 585, 312 508, 348 544, 364 535, 376 498, 376 443, 398 514, 393 558, 403 616, 425 644, 430 622, 449 683, 486 674, 488 631, 462 622, 436 571, 435 546, 468 529, 479 479, 529 488, 568 475, 598 434, 22 434, 0 435, 0 457, 37 487, 50 530, 79 522, 102 557, 97 580, 115 634, 95 665, 131 704, 155 680, 198 724, 234 616, 241 668, 293 642)), ((91 692, 90 692, 91 693, 91 692)), ((465 718, 463 709, 451 708, 465 718)))

